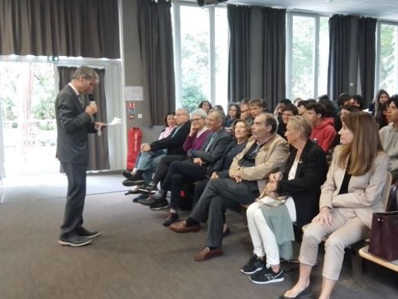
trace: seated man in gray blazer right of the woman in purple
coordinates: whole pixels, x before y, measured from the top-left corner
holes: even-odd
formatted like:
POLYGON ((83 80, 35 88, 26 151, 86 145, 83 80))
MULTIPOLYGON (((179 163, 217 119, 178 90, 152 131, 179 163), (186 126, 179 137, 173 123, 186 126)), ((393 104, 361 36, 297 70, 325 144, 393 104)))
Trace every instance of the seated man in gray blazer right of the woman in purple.
POLYGON ((206 179, 214 163, 222 157, 231 142, 231 135, 222 126, 224 122, 225 114, 222 111, 211 110, 207 116, 207 127, 211 130, 211 134, 207 136, 202 147, 189 151, 189 161, 171 163, 158 192, 150 195, 148 199, 141 200, 140 203, 150 208, 167 208, 169 206, 166 199, 167 191, 171 191, 171 206, 176 207, 184 182, 193 183, 206 179))

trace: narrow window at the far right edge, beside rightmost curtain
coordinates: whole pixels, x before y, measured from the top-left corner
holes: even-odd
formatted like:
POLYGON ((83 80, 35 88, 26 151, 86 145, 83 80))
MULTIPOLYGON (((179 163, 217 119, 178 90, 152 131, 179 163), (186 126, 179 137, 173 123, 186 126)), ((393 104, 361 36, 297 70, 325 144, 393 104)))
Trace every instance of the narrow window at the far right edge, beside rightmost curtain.
POLYGON ((391 95, 398 88, 398 25, 379 23, 377 36, 375 89, 386 89, 391 95))

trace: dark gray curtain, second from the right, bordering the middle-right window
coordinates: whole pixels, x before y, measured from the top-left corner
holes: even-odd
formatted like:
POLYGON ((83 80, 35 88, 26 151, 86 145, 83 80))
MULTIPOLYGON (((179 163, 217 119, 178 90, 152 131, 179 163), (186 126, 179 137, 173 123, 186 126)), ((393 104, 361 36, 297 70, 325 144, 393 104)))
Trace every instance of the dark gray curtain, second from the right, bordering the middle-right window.
POLYGON ((350 89, 350 23, 351 17, 345 15, 329 19, 328 94, 333 100, 350 89))

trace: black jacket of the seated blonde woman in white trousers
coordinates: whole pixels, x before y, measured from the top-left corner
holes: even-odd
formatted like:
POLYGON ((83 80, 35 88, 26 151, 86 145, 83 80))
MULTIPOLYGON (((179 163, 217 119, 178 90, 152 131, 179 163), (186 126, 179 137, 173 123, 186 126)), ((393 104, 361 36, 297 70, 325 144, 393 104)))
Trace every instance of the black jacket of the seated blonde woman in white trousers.
POLYGON ((323 149, 316 143, 308 140, 301 153, 297 165, 296 176, 288 180, 287 176, 294 163, 297 149, 292 150, 287 159, 287 167, 282 180, 278 185, 278 194, 287 193, 293 197, 296 206, 297 224, 303 226, 311 222, 319 212, 319 197, 321 185, 326 179, 328 163, 323 149))

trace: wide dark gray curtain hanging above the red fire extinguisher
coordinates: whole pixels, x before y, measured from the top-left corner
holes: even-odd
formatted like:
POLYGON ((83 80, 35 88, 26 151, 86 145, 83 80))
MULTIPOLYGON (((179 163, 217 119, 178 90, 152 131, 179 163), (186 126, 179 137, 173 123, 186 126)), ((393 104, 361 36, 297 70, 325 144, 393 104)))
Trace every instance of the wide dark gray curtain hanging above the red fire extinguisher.
POLYGON ((176 109, 171 1, 138 0, 138 27, 144 95, 151 111, 148 125, 163 125, 167 111, 176 109))

